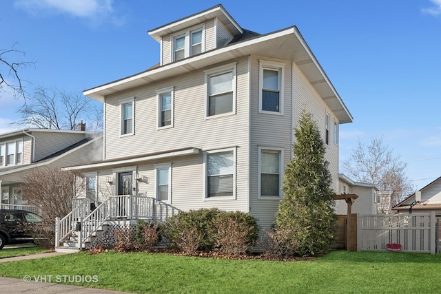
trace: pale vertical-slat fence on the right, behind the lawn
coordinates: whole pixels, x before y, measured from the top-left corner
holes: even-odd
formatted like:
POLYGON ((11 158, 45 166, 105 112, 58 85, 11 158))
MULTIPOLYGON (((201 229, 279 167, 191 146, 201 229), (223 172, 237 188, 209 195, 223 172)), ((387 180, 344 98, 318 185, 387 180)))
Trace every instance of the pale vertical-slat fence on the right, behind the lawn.
POLYGON ((400 244, 404 252, 435 254, 435 213, 358 215, 357 251, 386 251, 400 244))

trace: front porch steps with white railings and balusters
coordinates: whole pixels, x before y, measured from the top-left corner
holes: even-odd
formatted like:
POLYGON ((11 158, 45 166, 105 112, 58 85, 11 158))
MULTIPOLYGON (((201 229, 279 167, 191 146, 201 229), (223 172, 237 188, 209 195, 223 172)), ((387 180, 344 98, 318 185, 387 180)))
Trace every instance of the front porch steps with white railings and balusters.
POLYGON ((111 196, 96 207, 90 199, 76 198, 72 211, 55 220, 55 251, 80 251, 107 226, 136 224, 136 220, 164 222, 181 210, 147 196, 111 196))

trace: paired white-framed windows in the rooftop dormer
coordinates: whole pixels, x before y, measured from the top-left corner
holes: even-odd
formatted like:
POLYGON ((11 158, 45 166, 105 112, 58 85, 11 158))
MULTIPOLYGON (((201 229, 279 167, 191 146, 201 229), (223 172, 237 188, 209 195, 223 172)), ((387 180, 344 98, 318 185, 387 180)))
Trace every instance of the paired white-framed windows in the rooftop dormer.
POLYGON ((195 28, 172 36, 173 61, 204 52, 203 32, 204 28, 195 28))

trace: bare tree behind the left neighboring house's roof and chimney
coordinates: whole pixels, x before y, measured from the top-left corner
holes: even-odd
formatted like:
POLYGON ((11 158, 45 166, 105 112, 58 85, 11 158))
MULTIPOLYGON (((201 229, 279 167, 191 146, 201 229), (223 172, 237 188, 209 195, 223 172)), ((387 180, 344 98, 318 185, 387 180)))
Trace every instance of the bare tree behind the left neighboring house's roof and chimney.
POLYGON ((40 129, 76 129, 79 120, 88 121, 93 131, 103 127, 102 109, 92 105, 90 98, 82 94, 66 93, 57 89, 38 87, 19 114, 21 120, 14 124, 40 129))

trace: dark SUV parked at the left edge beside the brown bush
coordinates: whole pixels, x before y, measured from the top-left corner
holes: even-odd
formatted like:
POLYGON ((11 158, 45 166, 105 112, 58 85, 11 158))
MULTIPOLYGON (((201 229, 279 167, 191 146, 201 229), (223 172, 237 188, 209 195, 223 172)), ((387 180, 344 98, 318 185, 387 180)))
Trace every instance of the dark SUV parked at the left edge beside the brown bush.
POLYGON ((0 209, 0 249, 6 244, 31 242, 28 226, 41 222, 37 214, 25 210, 0 209))

